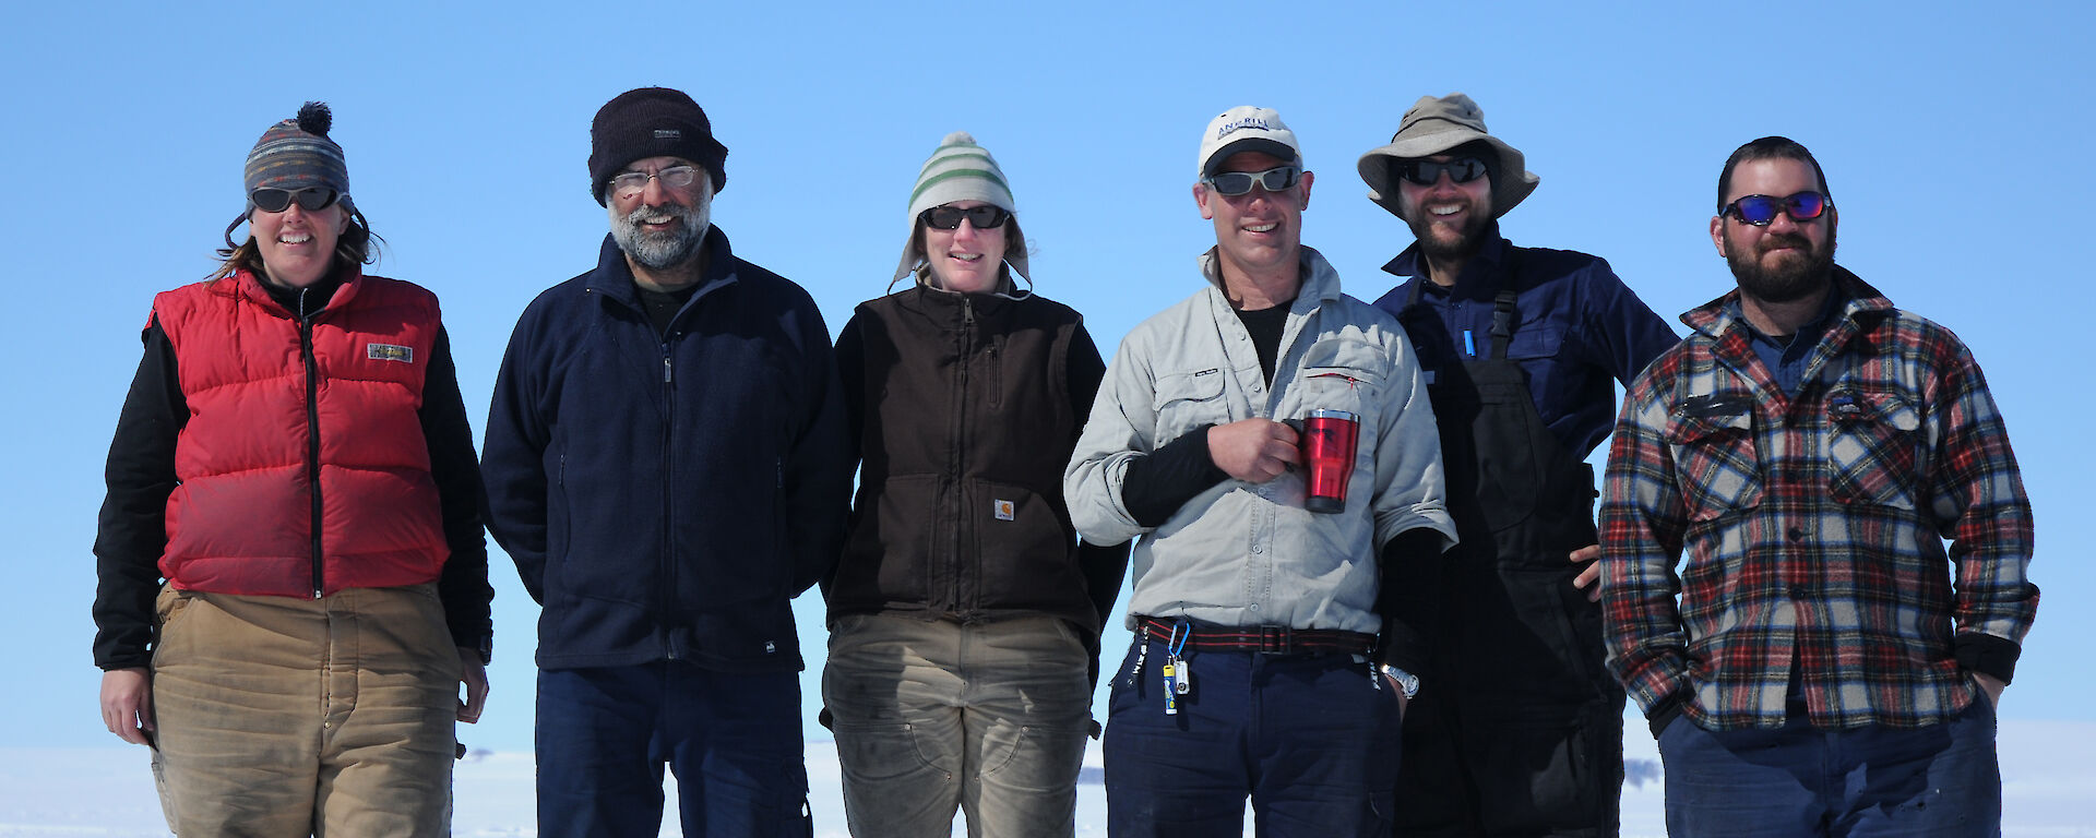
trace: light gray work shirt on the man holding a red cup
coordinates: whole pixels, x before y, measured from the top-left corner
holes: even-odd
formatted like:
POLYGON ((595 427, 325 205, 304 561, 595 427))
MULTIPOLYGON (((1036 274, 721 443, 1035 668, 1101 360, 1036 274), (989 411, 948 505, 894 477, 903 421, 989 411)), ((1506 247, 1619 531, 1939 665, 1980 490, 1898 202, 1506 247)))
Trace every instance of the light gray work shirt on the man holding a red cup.
MULTIPOLYGON (((1404 530, 1455 545, 1440 436, 1425 379, 1390 314, 1339 293, 1339 274, 1302 249, 1304 287, 1281 333, 1266 385, 1251 335, 1222 291, 1216 251, 1205 289, 1121 339, 1092 404, 1063 492, 1077 532, 1098 545, 1142 536, 1134 551, 1134 616, 1186 616, 1224 626, 1337 629, 1373 635, 1377 551, 1404 530), (1121 503, 1128 463, 1195 427, 1337 409, 1360 415, 1346 511, 1304 509, 1304 476, 1224 480, 1155 530, 1121 503)), ((1421 557, 1434 559, 1440 557, 1421 557)))

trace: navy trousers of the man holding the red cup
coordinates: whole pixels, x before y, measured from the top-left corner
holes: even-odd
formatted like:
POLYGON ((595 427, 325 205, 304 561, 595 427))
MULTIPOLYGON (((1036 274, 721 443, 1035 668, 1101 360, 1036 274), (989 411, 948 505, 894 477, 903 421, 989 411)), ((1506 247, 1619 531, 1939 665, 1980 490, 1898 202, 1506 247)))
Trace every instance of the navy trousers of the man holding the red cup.
POLYGON ((1394 683, 1348 654, 1188 652, 1193 691, 1165 714, 1163 662, 1138 635, 1113 675, 1107 834, 1241 836, 1247 794, 1260 836, 1390 834, 1394 683))

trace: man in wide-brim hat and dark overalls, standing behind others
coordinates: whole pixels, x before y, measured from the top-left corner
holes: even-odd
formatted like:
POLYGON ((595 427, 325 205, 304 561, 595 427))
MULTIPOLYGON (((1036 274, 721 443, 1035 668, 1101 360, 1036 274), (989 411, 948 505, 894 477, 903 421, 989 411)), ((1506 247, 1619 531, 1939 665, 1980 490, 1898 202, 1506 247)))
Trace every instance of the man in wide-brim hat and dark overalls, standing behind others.
POLYGON ((1538 178, 1469 96, 1419 98, 1358 170, 1419 239, 1383 266, 1409 279, 1375 306, 1425 369, 1461 532, 1446 561, 1394 566, 1409 576, 1388 616, 1429 626, 1396 834, 1614 834, 1622 687, 1591 601, 1585 457, 1610 432, 1616 381, 1675 333, 1608 262, 1501 237, 1538 178))

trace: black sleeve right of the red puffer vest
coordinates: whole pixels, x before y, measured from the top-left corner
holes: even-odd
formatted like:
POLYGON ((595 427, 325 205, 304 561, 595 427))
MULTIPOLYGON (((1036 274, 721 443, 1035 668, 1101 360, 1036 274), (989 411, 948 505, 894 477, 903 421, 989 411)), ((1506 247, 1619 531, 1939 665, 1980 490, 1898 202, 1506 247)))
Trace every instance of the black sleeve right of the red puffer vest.
POLYGON ((480 654, 486 664, 495 656, 495 618, 488 585, 488 538, 480 528, 480 505, 486 494, 480 484, 480 459, 474 457, 474 427, 465 419, 465 398, 459 396, 459 369, 451 360, 451 335, 438 327, 430 371, 421 381, 421 438, 430 446, 430 480, 444 513, 444 545, 451 557, 436 580, 444 603, 444 624, 451 641, 480 654))

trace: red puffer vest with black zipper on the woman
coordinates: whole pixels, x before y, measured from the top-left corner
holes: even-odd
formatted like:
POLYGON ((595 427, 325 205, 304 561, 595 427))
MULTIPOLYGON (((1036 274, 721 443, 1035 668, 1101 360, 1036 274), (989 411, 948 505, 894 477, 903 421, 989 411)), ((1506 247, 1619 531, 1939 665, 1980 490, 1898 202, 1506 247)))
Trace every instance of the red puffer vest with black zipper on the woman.
POLYGON ((417 417, 436 295, 352 277, 300 325, 237 272, 157 295, 153 316, 189 400, 161 576, 283 597, 436 580, 449 547, 417 417))

